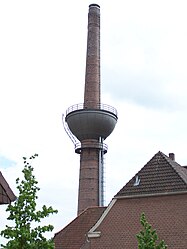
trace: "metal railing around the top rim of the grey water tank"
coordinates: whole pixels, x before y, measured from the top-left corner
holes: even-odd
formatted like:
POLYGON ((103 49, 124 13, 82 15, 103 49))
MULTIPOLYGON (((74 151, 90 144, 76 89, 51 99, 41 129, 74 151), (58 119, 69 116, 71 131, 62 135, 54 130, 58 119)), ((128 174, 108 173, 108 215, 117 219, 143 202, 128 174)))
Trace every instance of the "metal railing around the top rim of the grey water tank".
POLYGON ((113 106, 110 106, 110 105, 107 105, 107 104, 102 104, 102 103, 98 104, 96 106, 96 108, 85 108, 83 103, 75 104, 75 105, 70 106, 66 110, 66 115, 68 115, 70 112, 78 111, 78 110, 84 110, 84 109, 85 110, 100 109, 100 110, 111 112, 114 115, 118 116, 117 110, 113 106))

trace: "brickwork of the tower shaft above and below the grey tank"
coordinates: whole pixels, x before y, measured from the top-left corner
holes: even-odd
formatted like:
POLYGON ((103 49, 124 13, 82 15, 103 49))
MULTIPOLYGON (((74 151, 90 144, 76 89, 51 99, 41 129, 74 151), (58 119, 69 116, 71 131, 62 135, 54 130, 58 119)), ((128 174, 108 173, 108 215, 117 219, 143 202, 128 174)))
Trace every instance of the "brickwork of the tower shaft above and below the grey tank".
MULTIPOLYGON (((84 108, 100 104, 100 8, 89 6, 84 108)), ((90 141, 90 139, 85 140, 90 141)), ((82 141, 81 141, 82 142, 82 141)), ((94 143, 98 143, 97 140, 94 143)), ((99 206, 99 150, 84 148, 80 156, 78 214, 99 206)))

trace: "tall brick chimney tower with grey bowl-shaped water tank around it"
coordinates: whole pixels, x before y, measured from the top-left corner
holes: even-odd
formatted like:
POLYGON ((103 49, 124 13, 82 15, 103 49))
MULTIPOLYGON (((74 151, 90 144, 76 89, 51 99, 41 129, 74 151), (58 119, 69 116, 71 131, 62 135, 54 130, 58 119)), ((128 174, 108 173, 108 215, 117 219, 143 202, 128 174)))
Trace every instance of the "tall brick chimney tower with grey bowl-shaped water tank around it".
POLYGON ((80 154, 78 211, 104 205, 103 156, 107 145, 103 143, 117 122, 114 107, 100 103, 100 7, 89 5, 88 37, 84 103, 69 107, 65 121, 67 133, 80 154))

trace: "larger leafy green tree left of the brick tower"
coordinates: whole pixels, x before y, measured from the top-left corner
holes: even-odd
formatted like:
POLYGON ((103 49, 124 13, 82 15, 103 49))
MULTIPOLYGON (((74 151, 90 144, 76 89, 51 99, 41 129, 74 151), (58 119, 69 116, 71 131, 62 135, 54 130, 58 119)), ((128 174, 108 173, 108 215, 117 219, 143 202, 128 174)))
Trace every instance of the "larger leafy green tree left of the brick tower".
MULTIPOLYGON (((32 161, 38 155, 29 158, 32 161)), ((52 225, 40 226, 41 219, 50 214, 57 213, 52 207, 43 205, 42 210, 36 210, 37 192, 40 190, 38 182, 33 175, 33 167, 26 157, 23 157, 24 169, 22 170, 24 179, 16 179, 18 198, 14 203, 8 205, 8 220, 14 221, 14 226, 7 226, 1 231, 1 236, 9 239, 6 245, 1 245, 6 249, 52 249, 54 243, 51 239, 46 239, 43 233, 53 230, 52 225)))

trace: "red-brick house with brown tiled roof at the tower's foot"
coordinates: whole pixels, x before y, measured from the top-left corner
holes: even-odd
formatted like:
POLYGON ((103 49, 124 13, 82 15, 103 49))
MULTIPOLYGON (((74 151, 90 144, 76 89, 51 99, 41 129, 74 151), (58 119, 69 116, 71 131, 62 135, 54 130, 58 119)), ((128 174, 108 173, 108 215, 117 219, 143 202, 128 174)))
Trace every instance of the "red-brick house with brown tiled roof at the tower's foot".
POLYGON ((169 249, 187 248, 187 168, 175 162, 173 153, 169 157, 160 151, 156 153, 114 196, 87 233, 82 230, 84 223, 80 215, 77 223, 72 222, 59 232, 62 243, 58 240, 57 245, 55 235, 55 248, 137 248, 136 234, 141 230, 142 212, 169 249), (69 237, 69 247, 63 247, 69 228, 72 240, 69 237), (74 246, 74 239, 79 237, 77 231, 81 233, 79 236, 85 236, 80 247, 74 246))

